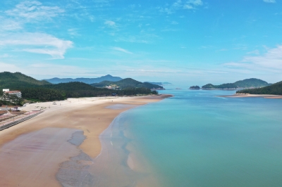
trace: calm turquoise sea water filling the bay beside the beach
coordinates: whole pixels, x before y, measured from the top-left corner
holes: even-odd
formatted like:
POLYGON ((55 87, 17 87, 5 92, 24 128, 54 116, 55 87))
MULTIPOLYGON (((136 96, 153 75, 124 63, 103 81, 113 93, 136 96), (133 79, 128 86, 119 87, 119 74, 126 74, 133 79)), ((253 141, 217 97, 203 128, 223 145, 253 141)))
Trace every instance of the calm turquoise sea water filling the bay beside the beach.
POLYGON ((128 146, 161 186, 282 186, 282 100, 161 93, 174 97, 121 116, 128 146))

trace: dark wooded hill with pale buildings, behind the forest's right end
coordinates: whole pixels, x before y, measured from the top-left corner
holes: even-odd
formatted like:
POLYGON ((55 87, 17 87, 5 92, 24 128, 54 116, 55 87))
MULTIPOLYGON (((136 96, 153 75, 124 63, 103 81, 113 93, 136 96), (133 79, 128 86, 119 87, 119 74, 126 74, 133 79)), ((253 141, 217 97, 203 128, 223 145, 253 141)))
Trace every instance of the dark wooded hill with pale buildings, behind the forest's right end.
POLYGON ((100 88, 104 88, 106 86, 115 86, 119 89, 127 89, 127 88, 164 89, 163 86, 159 86, 157 84, 151 84, 149 82, 142 83, 131 78, 122 79, 118 82, 103 81, 100 83, 91 84, 91 86, 100 87, 100 88))

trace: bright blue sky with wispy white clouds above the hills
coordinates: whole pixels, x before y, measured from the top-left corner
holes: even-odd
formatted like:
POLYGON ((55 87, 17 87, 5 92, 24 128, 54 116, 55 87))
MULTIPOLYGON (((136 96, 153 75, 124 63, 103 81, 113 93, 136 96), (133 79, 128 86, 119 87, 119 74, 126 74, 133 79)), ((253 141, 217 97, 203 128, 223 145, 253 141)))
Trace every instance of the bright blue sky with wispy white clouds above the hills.
POLYGON ((0 72, 185 86, 282 81, 281 0, 0 2, 0 72))

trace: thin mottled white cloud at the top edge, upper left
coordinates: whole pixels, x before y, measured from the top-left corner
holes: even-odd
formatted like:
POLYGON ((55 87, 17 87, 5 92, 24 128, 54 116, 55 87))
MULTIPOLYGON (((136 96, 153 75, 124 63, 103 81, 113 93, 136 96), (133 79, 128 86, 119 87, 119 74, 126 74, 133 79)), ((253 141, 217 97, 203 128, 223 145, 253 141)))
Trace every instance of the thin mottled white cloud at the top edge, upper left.
POLYGON ((63 12, 64 10, 58 6, 43 6, 39 1, 23 1, 5 13, 10 17, 33 21, 51 19, 63 12))

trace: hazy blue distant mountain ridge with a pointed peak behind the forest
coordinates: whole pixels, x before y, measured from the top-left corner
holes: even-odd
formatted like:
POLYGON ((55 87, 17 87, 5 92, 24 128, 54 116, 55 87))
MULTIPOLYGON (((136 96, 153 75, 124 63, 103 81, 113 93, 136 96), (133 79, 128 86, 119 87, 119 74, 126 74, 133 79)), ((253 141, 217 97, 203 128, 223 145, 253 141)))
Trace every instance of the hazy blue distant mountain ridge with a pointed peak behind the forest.
POLYGON ((116 81, 120 81, 121 77, 113 77, 111 75, 106 75, 97 78, 76 78, 76 79, 71 79, 71 78, 60 79, 55 77, 53 79, 45 79, 45 80, 47 82, 51 82, 52 84, 67 83, 67 82, 84 82, 86 84, 93 84, 102 81, 116 82, 116 81))

